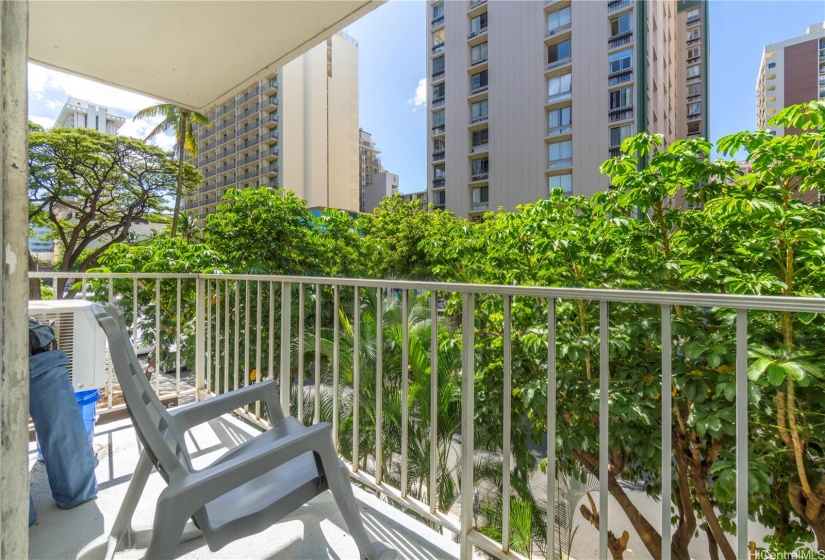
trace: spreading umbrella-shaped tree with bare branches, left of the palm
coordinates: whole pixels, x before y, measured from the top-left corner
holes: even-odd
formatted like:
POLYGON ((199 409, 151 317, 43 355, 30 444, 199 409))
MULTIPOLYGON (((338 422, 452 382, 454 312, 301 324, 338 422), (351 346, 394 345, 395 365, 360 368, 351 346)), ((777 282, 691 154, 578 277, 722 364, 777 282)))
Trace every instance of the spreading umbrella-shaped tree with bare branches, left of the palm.
MULTIPOLYGON (((183 168, 186 185, 200 175, 183 168)), ((163 209, 177 170, 163 150, 128 136, 89 129, 32 127, 29 133, 29 221, 52 229, 60 271, 96 266, 136 220, 163 209)), ((58 294, 62 294, 62 284, 58 294)))

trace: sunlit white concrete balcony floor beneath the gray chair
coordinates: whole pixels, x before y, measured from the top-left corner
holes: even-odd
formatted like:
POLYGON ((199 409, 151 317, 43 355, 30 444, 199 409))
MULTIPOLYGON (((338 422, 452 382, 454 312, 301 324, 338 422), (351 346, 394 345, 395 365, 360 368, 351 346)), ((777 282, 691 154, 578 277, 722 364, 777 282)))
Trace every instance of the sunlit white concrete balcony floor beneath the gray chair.
MULTIPOLYGON (((223 416, 198 426, 187 437, 196 468, 215 460, 256 430, 234 417, 223 416)), ((75 558, 89 542, 108 531, 120 508, 138 460, 138 441, 130 420, 99 425, 95 430, 97 499, 74 509, 58 509, 51 497, 46 467, 29 446, 31 492, 37 523, 29 528, 29 558, 75 558)), ((151 525, 155 503, 165 483, 153 472, 133 519, 135 526, 151 525)), ((377 497, 355 488, 367 531, 398 550, 399 558, 440 560, 458 558, 458 544, 415 521, 377 497)), ((142 558, 144 550, 126 550, 118 558, 142 558)), ((268 530, 210 552, 203 537, 178 546, 176 558, 357 558, 358 549, 329 492, 316 497, 268 530)))

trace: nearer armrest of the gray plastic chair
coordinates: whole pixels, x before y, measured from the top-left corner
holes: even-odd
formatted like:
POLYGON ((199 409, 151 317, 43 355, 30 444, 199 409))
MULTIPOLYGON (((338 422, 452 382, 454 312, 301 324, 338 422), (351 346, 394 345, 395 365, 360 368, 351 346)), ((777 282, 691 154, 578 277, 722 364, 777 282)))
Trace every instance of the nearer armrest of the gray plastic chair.
POLYGON ((187 474, 179 484, 174 485, 175 488, 169 486, 167 490, 181 499, 189 500, 190 505, 197 509, 275 467, 309 451, 319 451, 325 445, 335 453, 332 448, 330 426, 326 422, 321 422, 225 463, 187 474))

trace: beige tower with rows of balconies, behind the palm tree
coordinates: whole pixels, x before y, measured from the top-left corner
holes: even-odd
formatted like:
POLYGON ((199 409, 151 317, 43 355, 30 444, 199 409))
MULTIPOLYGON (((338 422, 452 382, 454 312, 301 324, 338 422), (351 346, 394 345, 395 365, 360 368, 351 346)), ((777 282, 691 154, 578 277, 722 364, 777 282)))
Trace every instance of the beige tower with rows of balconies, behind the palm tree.
POLYGON ((230 188, 285 188, 310 208, 358 210, 358 43, 339 33, 229 94, 199 127, 200 220, 230 188))

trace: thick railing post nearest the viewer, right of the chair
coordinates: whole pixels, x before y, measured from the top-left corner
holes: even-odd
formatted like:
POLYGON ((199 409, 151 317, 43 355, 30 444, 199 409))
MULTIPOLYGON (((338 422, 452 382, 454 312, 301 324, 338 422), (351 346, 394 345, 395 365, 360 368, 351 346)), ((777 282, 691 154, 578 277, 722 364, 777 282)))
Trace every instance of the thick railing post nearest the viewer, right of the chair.
POLYGON ((462 294, 461 302, 461 535, 460 558, 473 557, 467 538, 473 530, 473 451, 475 448, 475 294, 462 294))

